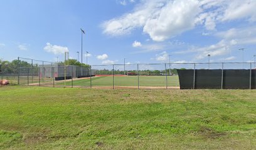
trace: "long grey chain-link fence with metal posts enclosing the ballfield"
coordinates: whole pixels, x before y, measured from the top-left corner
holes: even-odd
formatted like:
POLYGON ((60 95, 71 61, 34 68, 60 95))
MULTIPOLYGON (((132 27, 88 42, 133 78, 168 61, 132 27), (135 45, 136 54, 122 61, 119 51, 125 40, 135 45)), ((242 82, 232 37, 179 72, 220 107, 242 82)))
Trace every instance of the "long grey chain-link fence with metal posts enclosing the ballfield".
MULTIPOLYGON (((250 85, 252 85, 255 82, 254 65, 255 63, 165 63, 111 64, 82 67, 38 64, 36 67, 19 68, 16 78, 19 84, 30 86, 100 89, 179 89, 178 70, 191 70, 191 80, 188 82, 193 84, 190 89, 196 89, 196 84, 200 80, 198 76, 201 73, 197 70, 208 69, 220 71, 221 82, 223 82, 225 70, 247 70, 250 85)), ((201 76, 205 75, 202 74, 201 76)), ((221 88, 223 87, 221 86, 221 88)), ((252 86, 248 88, 252 89, 252 86)))

